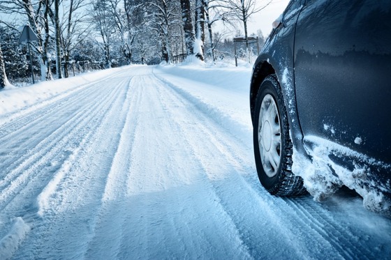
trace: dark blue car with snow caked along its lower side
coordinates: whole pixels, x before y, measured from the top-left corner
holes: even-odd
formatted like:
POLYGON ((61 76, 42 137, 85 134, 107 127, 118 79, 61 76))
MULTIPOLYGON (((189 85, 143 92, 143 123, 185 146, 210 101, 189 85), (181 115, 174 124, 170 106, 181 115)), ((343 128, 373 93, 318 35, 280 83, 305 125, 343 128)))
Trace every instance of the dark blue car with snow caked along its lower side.
POLYGON ((390 214, 391 1, 290 1, 273 25, 251 78, 260 182, 390 214))

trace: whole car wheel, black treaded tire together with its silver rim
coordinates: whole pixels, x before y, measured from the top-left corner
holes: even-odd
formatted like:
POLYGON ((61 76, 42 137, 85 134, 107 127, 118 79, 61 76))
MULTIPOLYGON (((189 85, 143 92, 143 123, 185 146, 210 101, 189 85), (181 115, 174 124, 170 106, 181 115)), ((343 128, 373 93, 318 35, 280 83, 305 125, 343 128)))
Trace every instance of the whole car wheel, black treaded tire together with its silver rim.
POLYGON ((271 194, 292 196, 306 192, 302 178, 292 173, 293 144, 281 87, 276 75, 267 76, 256 97, 253 128, 256 169, 271 194))

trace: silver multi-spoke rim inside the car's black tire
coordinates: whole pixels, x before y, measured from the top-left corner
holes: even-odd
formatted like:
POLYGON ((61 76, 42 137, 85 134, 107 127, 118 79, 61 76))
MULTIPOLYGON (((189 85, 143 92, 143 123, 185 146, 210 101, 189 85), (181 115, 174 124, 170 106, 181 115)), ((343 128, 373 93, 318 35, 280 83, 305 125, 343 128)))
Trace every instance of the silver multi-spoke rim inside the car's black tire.
POLYGON ((272 178, 281 161, 281 124, 276 102, 270 94, 265 95, 260 105, 258 143, 263 169, 272 178))

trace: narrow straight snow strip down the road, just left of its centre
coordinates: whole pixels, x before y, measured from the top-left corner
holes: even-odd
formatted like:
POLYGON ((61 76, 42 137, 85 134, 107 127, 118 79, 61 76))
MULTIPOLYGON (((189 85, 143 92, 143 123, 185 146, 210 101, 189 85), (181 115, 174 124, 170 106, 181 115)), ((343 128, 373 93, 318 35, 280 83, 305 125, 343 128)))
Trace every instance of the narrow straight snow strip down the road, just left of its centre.
POLYGON ((119 250, 121 223, 124 222, 125 211, 129 210, 124 207, 126 180, 130 169, 128 157, 133 149, 135 128, 139 121, 136 111, 142 98, 142 84, 136 84, 139 77, 133 77, 129 83, 125 104, 120 113, 120 117, 125 120, 105 182, 101 206, 94 220, 93 236, 87 241, 88 247, 84 253, 87 259, 113 259, 119 250))

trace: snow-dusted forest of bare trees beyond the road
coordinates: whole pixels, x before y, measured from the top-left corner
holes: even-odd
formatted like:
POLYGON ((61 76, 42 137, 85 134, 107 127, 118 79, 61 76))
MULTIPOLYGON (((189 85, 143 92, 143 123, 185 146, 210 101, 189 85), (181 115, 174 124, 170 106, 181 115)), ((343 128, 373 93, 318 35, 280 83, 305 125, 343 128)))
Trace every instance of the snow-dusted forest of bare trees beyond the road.
MULTIPOLYGON (((0 0, 0 88, 29 82, 30 54, 20 44, 29 25, 34 75, 40 80, 131 63, 179 63, 233 58, 233 35, 249 60, 249 17, 270 4, 256 0, 0 0), (218 29, 216 29, 218 28, 218 29), (61 64, 61 66, 59 66, 61 64)), ((252 36, 263 45, 262 31, 252 36)))

